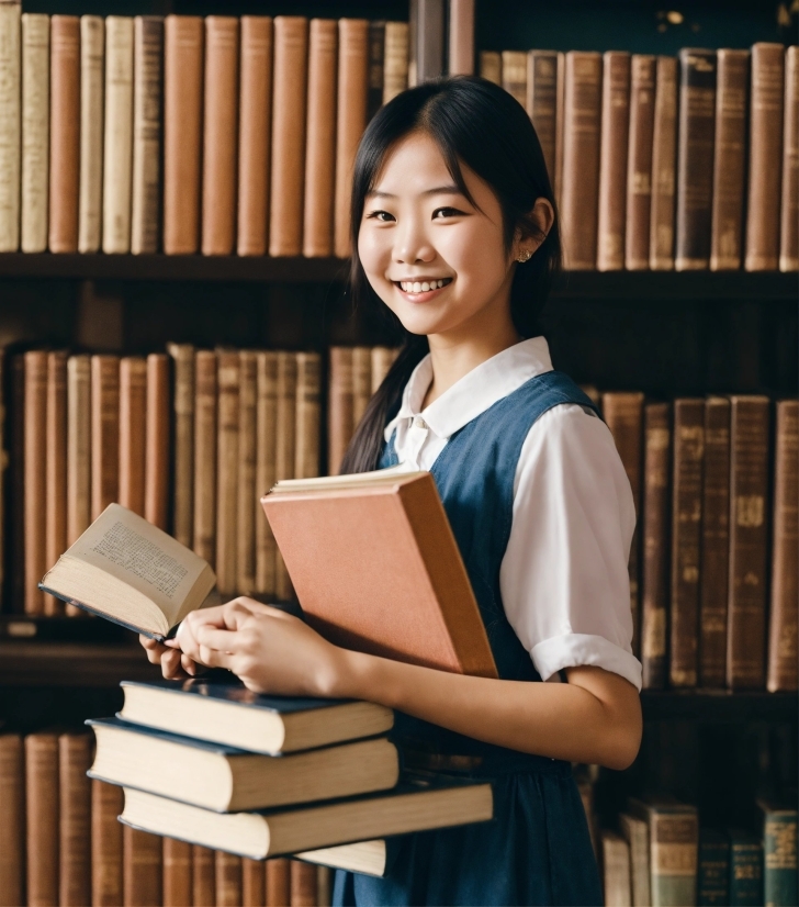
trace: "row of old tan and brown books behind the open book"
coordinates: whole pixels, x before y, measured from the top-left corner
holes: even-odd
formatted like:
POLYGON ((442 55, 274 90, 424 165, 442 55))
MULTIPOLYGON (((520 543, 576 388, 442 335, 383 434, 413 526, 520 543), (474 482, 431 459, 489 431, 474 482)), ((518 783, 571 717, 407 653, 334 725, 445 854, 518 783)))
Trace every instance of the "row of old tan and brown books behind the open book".
MULTIPOLYGON (((394 350, 333 347, 329 358, 337 472, 394 350)), ((319 354, 170 344, 146 357, 8 359, 7 609, 79 614, 38 582, 112 502, 206 560, 223 596, 291 597, 259 499, 281 479, 319 474, 319 354)))

